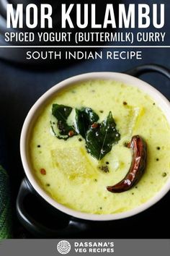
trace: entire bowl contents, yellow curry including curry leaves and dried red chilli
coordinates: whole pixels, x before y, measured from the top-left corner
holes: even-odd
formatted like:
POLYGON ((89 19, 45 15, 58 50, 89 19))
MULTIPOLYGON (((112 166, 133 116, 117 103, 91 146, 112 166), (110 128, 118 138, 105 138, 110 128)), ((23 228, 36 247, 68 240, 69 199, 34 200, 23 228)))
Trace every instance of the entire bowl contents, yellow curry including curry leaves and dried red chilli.
POLYGON ((170 175, 170 127, 138 88, 90 80, 44 106, 30 140, 32 170, 54 200, 84 213, 138 207, 170 175))

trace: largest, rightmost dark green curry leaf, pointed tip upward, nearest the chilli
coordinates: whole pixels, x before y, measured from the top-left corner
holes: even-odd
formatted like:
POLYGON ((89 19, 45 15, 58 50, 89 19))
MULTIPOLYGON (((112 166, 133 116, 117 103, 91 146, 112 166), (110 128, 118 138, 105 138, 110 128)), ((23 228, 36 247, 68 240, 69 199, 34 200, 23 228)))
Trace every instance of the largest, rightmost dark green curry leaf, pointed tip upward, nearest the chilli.
POLYGON ((96 128, 90 128, 86 132, 87 151, 98 160, 112 150, 112 145, 120 140, 120 133, 116 129, 112 112, 109 111, 107 119, 102 121, 96 128))

